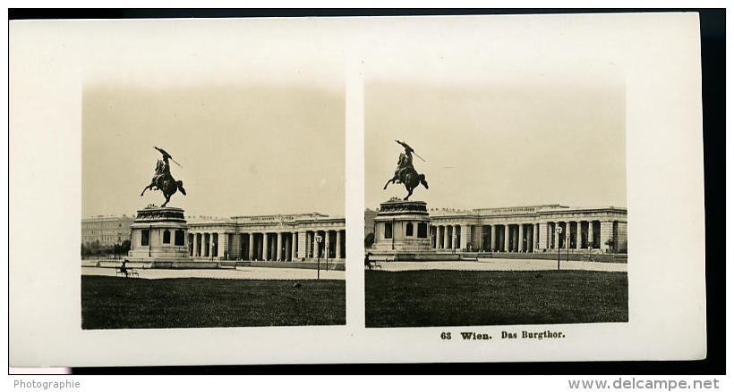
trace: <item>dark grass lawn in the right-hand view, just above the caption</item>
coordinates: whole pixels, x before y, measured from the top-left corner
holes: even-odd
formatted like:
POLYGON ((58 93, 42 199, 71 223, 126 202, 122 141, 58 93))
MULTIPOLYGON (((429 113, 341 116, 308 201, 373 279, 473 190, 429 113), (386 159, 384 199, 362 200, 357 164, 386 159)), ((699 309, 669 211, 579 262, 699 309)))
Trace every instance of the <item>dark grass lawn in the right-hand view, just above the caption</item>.
POLYGON ((627 321, 627 272, 364 271, 367 327, 627 321))

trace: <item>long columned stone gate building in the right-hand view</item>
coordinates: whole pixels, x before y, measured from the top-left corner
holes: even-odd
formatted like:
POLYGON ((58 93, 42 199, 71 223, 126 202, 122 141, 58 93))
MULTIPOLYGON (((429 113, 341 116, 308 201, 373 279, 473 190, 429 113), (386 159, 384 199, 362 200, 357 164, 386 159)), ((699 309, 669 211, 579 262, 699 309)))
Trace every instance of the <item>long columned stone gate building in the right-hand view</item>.
POLYGON ((468 211, 432 209, 431 247, 437 251, 548 252, 596 249, 627 253, 627 209, 544 204, 468 211))

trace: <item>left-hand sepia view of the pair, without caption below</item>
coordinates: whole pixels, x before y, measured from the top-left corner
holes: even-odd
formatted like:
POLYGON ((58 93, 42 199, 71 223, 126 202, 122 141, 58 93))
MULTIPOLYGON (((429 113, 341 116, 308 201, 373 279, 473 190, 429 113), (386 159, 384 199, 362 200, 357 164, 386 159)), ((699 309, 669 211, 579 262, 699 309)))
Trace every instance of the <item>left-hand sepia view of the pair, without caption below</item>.
POLYGON ((81 328, 343 325, 344 88, 82 89, 81 328))

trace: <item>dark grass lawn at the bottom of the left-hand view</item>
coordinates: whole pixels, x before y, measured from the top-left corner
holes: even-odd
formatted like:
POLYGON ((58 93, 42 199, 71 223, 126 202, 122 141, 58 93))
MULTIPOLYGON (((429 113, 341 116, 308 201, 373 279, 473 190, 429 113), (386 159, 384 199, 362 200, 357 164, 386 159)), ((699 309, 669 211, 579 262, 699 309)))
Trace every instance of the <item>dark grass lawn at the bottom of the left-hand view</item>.
POLYGON ((81 328, 343 325, 344 280, 81 277, 81 328))

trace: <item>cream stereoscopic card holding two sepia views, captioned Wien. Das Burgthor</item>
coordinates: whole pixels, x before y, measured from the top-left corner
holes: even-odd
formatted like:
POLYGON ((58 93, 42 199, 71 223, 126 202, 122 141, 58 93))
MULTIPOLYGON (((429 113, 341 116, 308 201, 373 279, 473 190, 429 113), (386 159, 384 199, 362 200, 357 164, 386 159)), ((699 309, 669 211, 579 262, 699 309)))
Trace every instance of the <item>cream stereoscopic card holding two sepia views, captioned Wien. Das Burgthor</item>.
POLYGON ((699 27, 12 21, 10 361, 705 358, 699 27))

